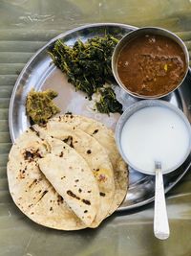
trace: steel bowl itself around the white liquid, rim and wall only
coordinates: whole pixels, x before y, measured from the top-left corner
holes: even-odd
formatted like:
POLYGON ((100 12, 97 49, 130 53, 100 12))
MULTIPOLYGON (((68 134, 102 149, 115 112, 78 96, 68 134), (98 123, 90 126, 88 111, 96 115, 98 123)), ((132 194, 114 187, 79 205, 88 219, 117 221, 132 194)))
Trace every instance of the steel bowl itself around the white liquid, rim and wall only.
MULTIPOLYGON (((117 142, 117 149, 120 153, 120 155, 122 156, 123 160, 129 164, 134 170, 145 174, 145 175, 152 175, 150 172, 147 172, 146 170, 138 170, 138 168, 134 165, 134 163, 132 163, 125 155, 125 153, 122 151, 121 148, 121 132, 122 129, 125 125, 125 123, 127 122, 127 120, 130 118, 131 115, 133 115, 135 112, 137 112, 138 110, 144 108, 144 107, 149 107, 149 106, 161 106, 161 107, 165 107, 168 108, 172 111, 174 111, 179 117, 180 119, 184 122, 186 128, 189 131, 189 147, 184 155, 184 157, 181 159, 180 163, 177 164, 176 166, 174 166, 171 170, 165 170, 165 172, 163 172, 163 174, 169 174, 171 172, 173 172, 174 170, 178 169, 180 167, 180 165, 186 160, 186 158, 188 157, 190 151, 191 151, 191 126, 189 121, 187 120, 186 116, 183 114, 183 112, 176 106, 171 105, 169 103, 166 103, 164 101, 161 100, 144 100, 144 101, 138 101, 136 104, 129 106, 124 112, 123 114, 120 116, 118 122, 117 122, 117 128, 116 128, 116 142, 117 142)), ((153 174, 154 175, 154 174, 153 174)))

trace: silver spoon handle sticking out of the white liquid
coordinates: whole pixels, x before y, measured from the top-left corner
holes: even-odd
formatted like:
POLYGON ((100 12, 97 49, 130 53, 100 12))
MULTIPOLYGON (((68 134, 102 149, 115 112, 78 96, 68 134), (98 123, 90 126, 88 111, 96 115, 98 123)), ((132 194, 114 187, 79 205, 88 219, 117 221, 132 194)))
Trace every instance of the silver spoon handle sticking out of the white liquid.
POLYGON ((156 162, 156 188, 155 188, 155 213, 154 213, 154 233, 160 240, 167 239, 170 235, 168 217, 166 212, 166 202, 164 197, 163 176, 161 163, 156 162))

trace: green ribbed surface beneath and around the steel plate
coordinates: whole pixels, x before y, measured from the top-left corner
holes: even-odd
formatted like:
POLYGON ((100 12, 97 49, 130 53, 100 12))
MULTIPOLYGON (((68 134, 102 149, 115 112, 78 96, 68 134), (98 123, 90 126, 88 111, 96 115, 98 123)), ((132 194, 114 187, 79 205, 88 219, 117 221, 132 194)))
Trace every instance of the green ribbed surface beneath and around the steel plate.
POLYGON ((153 204, 115 214, 97 229, 45 228, 13 204, 6 174, 11 91, 29 58, 55 35, 80 25, 118 22, 160 26, 184 40, 191 55, 191 0, 0 1, 0 256, 190 256, 191 173, 167 194, 171 236, 153 235, 153 204))

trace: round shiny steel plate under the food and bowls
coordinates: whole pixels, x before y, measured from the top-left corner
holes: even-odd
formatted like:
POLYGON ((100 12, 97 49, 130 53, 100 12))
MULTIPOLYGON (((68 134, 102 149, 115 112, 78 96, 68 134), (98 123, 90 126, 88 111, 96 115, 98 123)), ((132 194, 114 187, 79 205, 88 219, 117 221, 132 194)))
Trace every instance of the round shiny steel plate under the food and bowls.
MULTIPOLYGON (((67 45, 73 45, 80 38, 86 41, 94 36, 110 34, 120 39, 123 35, 136 30, 136 27, 124 24, 92 24, 79 27, 65 34, 54 37, 49 43, 41 48, 26 64, 16 81, 10 104, 9 123, 12 142, 21 134, 27 127, 30 126, 29 119, 26 116, 25 102, 26 97, 32 87, 35 90, 46 90, 52 88, 58 92, 58 97, 54 100, 55 104, 61 109, 61 114, 68 111, 74 114, 81 114, 87 117, 96 119, 102 122, 107 127, 115 130, 119 114, 96 113, 94 102, 85 98, 85 95, 74 90, 74 86, 67 81, 67 77, 57 69, 47 51, 54 41, 61 38, 67 45)), ((116 85, 116 84, 114 84, 116 85)), ((168 99, 171 104, 179 107, 188 120, 191 122, 191 70, 187 77, 182 82, 179 90, 173 92, 168 99)), ((119 86, 116 86, 117 99, 123 105, 123 109, 134 104, 137 100, 126 94, 119 86)), ((165 192, 173 188, 183 175, 189 170, 191 165, 191 156, 180 166, 178 170, 169 175, 164 175, 165 192)), ((155 179, 152 175, 142 175, 135 170, 129 170, 129 189, 126 198, 119 206, 117 211, 129 210, 145 205, 154 199, 155 194, 155 179)))

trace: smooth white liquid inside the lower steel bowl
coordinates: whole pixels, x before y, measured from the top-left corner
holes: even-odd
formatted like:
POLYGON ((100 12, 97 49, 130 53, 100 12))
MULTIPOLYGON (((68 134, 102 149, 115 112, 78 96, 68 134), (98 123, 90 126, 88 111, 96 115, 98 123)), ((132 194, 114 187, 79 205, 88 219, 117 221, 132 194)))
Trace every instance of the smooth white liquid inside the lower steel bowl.
POLYGON ((163 172, 174 169, 188 147, 189 129, 176 112, 166 107, 142 108, 122 128, 122 151, 134 168, 151 175, 155 161, 161 162, 163 172))

